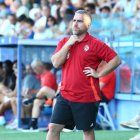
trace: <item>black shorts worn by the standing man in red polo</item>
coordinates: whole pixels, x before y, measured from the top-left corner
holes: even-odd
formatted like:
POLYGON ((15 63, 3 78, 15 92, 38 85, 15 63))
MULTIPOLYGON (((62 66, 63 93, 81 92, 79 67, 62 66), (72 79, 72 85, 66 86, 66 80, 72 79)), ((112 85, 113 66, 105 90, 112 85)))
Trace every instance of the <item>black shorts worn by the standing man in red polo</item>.
POLYGON ((96 125, 99 102, 77 103, 64 99, 61 95, 51 117, 51 123, 62 124, 65 128, 78 130, 90 130, 96 125))

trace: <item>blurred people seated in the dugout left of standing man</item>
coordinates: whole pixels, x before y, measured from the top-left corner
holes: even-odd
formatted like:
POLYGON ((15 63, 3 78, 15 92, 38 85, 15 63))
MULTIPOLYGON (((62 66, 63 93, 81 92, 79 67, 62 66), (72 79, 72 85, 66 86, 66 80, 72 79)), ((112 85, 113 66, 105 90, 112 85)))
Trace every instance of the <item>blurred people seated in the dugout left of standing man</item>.
MULTIPOLYGON (((17 60, 0 62, 0 126, 8 129, 18 128, 17 118, 17 60), (13 116, 6 119, 6 111, 11 109, 13 116)), ((56 70, 52 64, 34 60, 31 64, 22 64, 22 108, 21 123, 23 129, 37 129, 38 118, 44 106, 52 105, 57 91, 56 70)))

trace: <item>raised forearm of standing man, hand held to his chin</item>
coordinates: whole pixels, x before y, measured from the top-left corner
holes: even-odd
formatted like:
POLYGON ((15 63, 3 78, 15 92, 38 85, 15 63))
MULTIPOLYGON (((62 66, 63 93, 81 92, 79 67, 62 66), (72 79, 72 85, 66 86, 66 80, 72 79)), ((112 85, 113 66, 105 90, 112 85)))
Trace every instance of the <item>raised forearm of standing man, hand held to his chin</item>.
POLYGON ((72 35, 64 46, 52 56, 51 60, 55 68, 59 68, 65 63, 68 51, 76 41, 78 41, 78 37, 76 35, 72 35))

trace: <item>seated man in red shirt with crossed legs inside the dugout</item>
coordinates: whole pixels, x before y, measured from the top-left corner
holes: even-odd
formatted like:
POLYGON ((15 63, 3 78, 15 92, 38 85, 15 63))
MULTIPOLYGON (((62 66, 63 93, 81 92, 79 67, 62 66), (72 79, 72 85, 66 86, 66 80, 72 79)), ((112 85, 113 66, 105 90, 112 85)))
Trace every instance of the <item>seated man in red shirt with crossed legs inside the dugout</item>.
POLYGON ((46 99, 53 98, 57 91, 57 82, 55 75, 50 71, 51 64, 43 63, 40 60, 34 60, 31 63, 33 71, 41 75, 41 88, 37 92, 36 96, 24 102, 24 105, 29 105, 33 102, 32 118, 29 129, 38 129, 38 117, 41 111, 41 105, 46 99))

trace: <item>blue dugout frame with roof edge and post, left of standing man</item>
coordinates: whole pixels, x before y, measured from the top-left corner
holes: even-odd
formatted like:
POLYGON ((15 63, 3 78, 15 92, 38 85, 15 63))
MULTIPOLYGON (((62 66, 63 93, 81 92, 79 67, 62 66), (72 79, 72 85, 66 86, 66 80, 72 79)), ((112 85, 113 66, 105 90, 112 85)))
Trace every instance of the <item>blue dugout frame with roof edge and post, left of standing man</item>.
MULTIPOLYGON (((4 61, 6 59, 18 60, 18 93, 17 93, 17 117, 18 127, 21 127, 21 91, 22 91, 22 63, 31 63, 34 59, 41 59, 44 62, 50 62, 52 53, 54 52, 58 40, 18 40, 14 37, 1 37, 0 38, 0 59, 4 61)), ((56 71, 55 71, 56 72, 56 71)), ((59 71, 60 73, 60 71, 59 71)), ((56 73, 57 74, 57 73, 56 73)), ((60 79, 60 74, 59 74, 60 79)), ((39 126, 46 125, 46 120, 43 114, 51 114, 50 109, 44 109, 41 113, 42 118, 39 120, 39 126)), ((6 115, 7 117, 7 115, 6 115)), ((9 121, 12 118, 11 111, 8 112, 9 121)))

